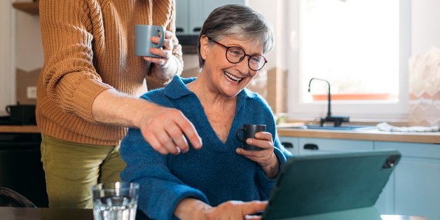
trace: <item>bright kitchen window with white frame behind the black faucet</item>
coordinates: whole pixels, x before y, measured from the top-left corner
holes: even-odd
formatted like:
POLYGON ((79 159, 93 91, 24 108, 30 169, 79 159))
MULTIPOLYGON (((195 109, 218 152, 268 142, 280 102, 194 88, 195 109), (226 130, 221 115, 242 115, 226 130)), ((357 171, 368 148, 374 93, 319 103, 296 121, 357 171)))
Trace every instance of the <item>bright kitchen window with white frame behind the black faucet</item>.
POLYGON ((407 118, 409 0, 301 0, 289 3, 288 110, 351 118, 407 118))

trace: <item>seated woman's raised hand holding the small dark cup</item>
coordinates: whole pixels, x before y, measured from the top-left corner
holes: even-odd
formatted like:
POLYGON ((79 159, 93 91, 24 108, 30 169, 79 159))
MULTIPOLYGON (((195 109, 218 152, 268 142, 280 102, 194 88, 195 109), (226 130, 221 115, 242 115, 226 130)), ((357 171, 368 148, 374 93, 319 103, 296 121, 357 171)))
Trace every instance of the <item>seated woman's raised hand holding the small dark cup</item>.
POLYGON ((255 138, 246 139, 246 143, 258 146, 263 150, 246 151, 245 149, 238 148, 235 152, 249 158, 249 160, 254 160, 256 163, 259 163, 266 173, 266 176, 271 179, 274 178, 278 174, 279 163, 277 156, 273 153, 272 134, 269 132, 256 132, 255 138))

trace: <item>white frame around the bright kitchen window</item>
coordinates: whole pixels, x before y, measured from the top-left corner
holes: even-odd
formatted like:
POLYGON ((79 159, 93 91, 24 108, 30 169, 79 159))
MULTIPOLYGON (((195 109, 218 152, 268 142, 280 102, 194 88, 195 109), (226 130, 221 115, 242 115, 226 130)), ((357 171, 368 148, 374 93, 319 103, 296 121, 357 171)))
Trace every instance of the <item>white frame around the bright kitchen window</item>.
MULTIPOLYGON (((287 51, 288 87, 287 111, 294 118, 317 118, 326 115, 327 101, 305 103, 301 99, 307 92, 301 85, 301 18, 305 1, 288 1, 287 29, 290 33, 287 51)), ((411 55, 411 1, 399 0, 399 101, 331 101, 331 113, 350 118, 407 119, 408 118, 408 60, 411 55)))

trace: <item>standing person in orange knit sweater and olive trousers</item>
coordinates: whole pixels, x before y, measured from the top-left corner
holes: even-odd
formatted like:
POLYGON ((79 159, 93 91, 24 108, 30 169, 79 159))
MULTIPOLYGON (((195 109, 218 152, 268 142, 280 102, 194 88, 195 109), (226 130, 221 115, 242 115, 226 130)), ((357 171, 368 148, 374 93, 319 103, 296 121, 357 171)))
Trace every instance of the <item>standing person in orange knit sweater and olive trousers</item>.
MULTIPOLYGON (((41 0, 44 66, 36 120, 49 207, 92 207, 90 188, 119 181, 119 144, 129 127, 162 154, 200 149, 177 109, 138 97, 183 69, 174 0, 41 0), (160 58, 135 56, 135 25, 166 27, 160 58)), ((158 43, 158 37, 151 39, 158 43)))

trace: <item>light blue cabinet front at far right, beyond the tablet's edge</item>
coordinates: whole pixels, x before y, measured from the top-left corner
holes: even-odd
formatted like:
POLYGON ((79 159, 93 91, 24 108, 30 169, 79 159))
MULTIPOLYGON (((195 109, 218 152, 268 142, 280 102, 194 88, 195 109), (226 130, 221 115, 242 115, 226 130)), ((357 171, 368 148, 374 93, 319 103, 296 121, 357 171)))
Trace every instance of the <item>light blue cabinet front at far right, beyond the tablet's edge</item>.
POLYGON ((394 214, 440 219, 440 144, 375 142, 375 149, 402 154, 394 170, 394 214))

